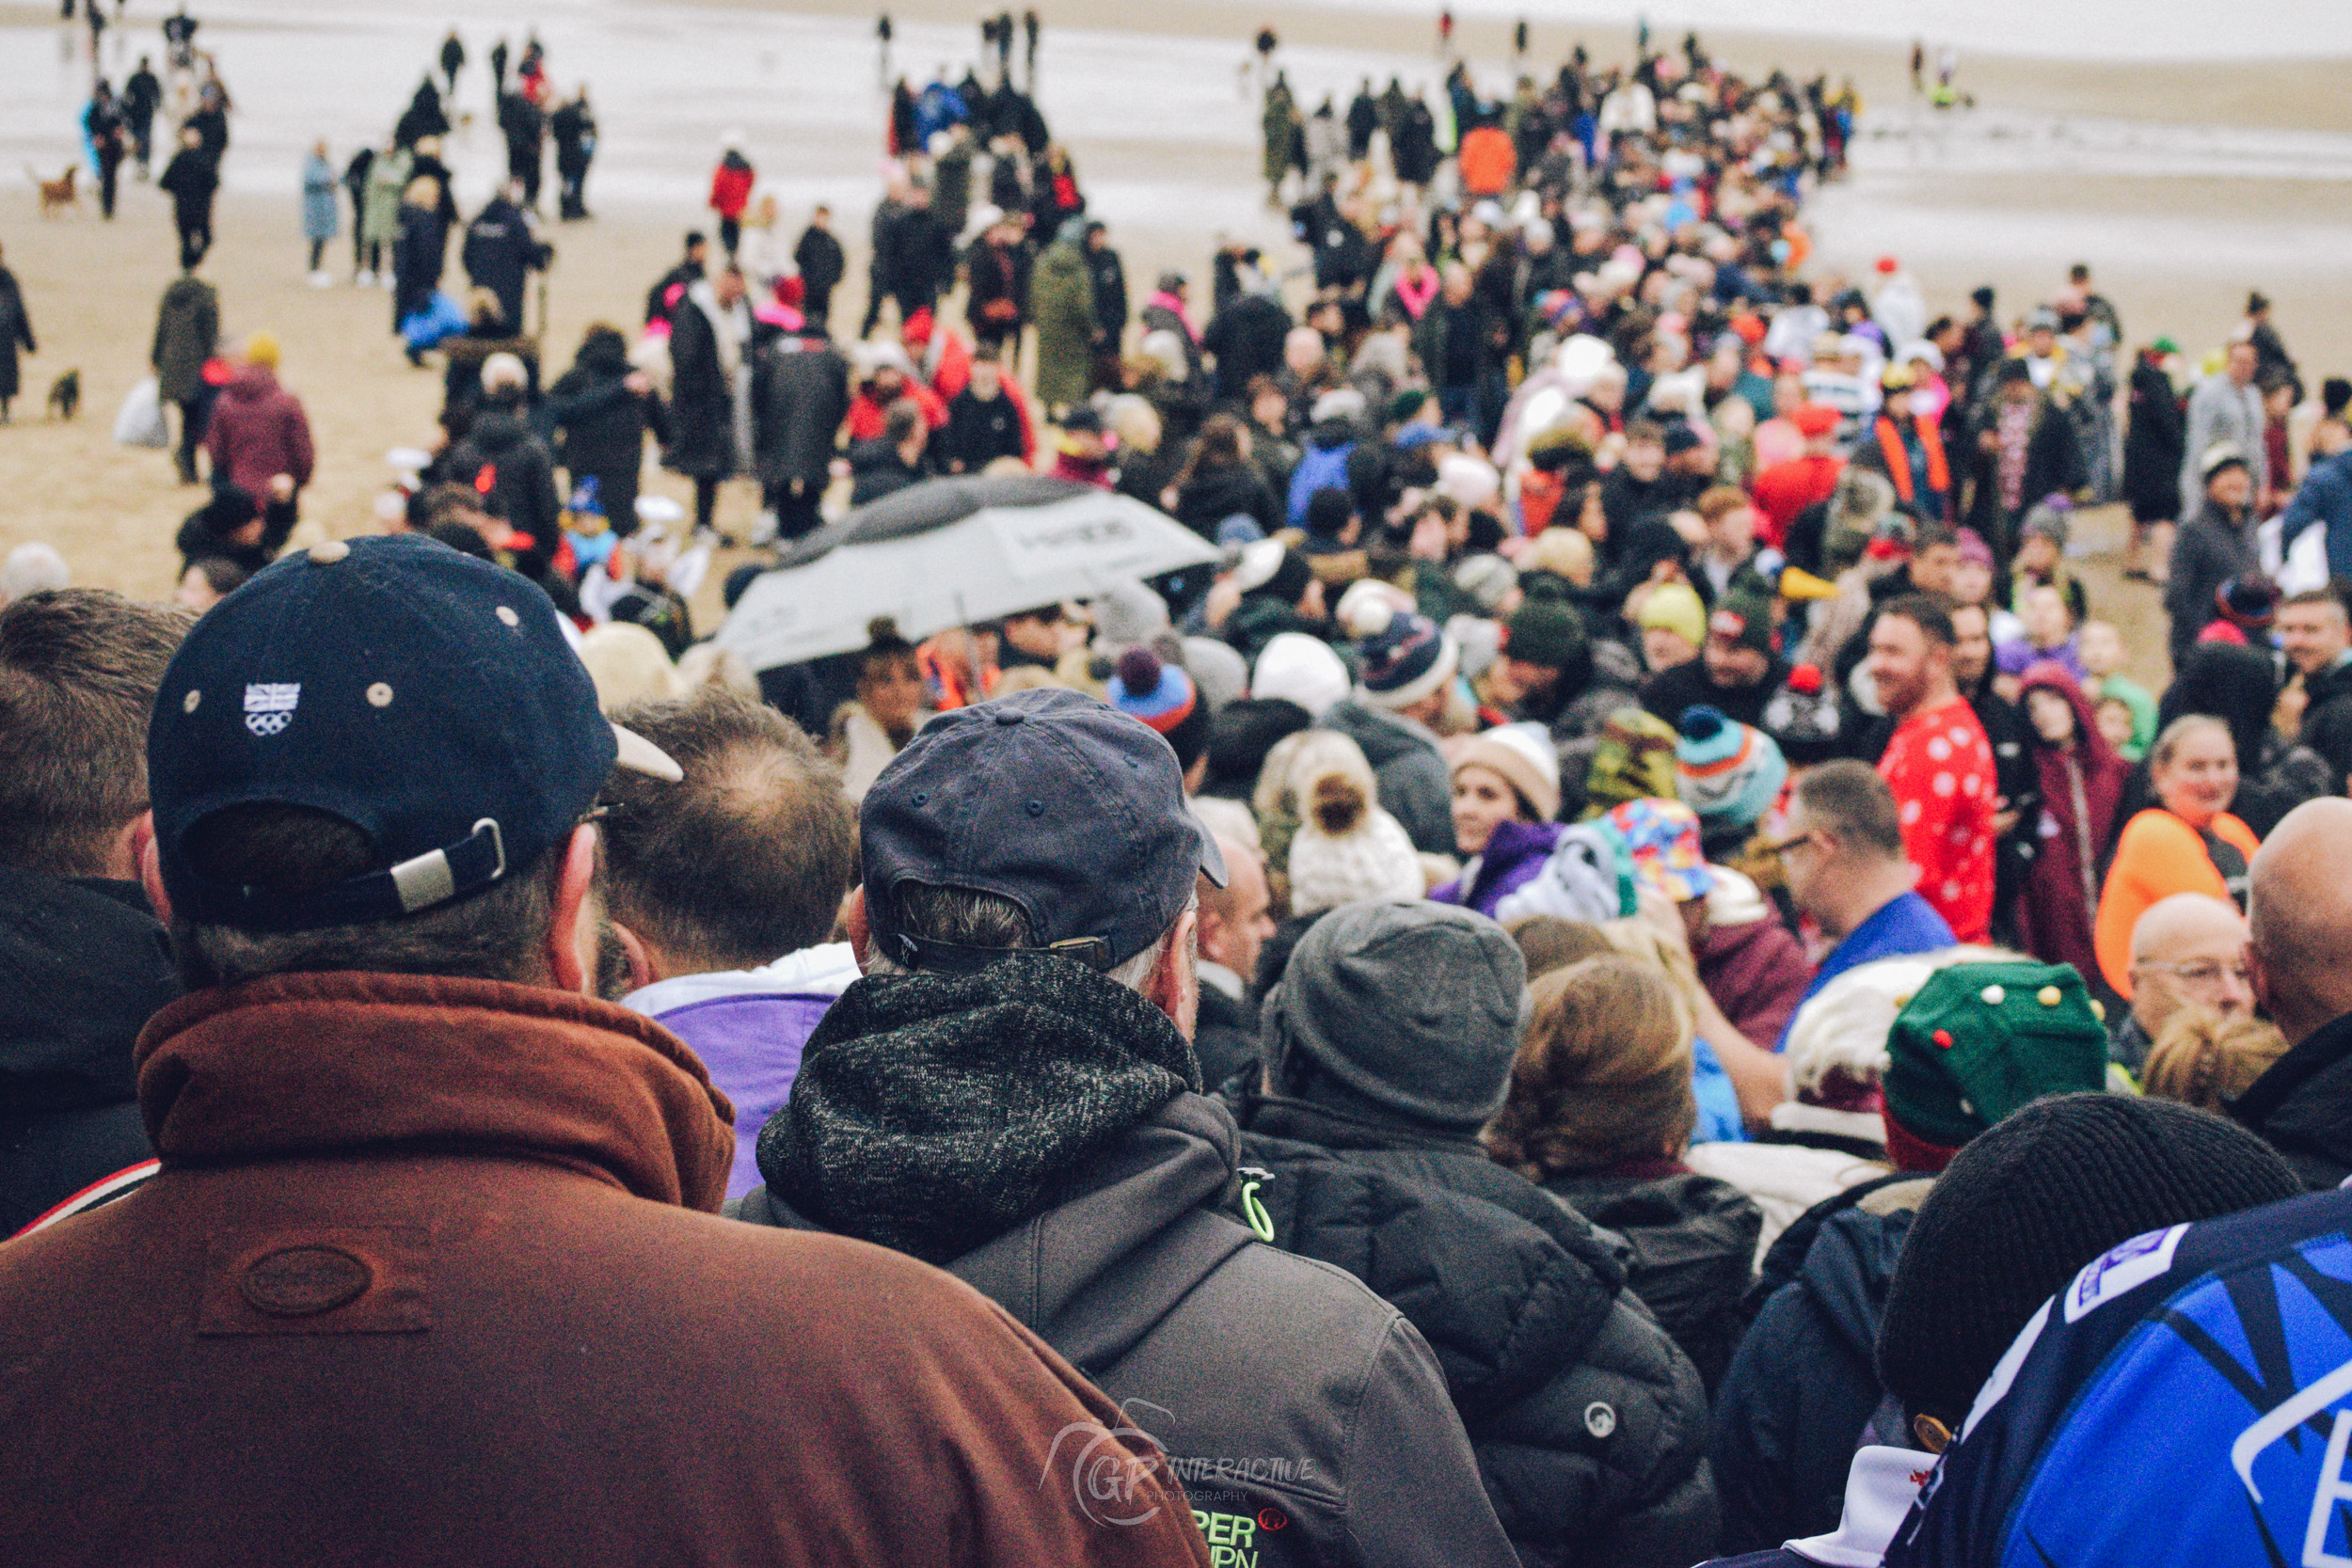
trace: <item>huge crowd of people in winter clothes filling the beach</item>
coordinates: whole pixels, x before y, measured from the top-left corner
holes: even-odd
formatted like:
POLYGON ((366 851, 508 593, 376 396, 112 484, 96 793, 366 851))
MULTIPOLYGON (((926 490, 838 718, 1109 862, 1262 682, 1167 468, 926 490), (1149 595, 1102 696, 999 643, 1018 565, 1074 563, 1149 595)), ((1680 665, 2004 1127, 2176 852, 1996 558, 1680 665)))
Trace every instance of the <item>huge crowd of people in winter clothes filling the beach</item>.
POLYGON ((0 567, 0 1554, 2352 1549, 2352 388, 1830 275, 1851 89, 1696 38, 1272 73, 1308 277, 1131 308, 1011 38, 854 339, 731 136, 543 381, 515 169, 379 536, 165 296, 181 602, 0 567), (696 625, 729 482, 731 604, 1009 473, 1216 564, 696 625))

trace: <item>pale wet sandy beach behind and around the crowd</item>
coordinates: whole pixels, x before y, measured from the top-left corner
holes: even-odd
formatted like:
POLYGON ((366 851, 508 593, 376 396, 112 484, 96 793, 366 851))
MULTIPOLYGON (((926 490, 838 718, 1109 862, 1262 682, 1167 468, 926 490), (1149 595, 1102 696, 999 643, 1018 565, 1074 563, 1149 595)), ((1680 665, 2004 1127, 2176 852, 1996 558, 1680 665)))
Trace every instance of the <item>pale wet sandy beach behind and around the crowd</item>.
MULTIPOLYGON (((960 71, 971 56, 967 7, 922 0, 894 9, 898 66, 960 71)), ((216 49, 238 96, 219 247, 205 273, 221 289, 233 339, 263 327, 280 336, 282 378, 310 411, 320 465, 303 527, 362 531, 374 527, 374 496, 388 480, 386 449, 433 433, 440 378, 402 360, 388 294, 348 287, 348 240, 334 252, 339 284, 308 287, 294 167, 313 136, 329 139, 336 165, 362 139, 381 136, 447 16, 423 7, 320 14, 287 0, 200 14, 200 42, 216 49)), ((1263 207, 1256 183, 1256 99, 1240 75, 1261 16, 1282 33, 1282 61, 1305 94, 1352 89, 1367 73, 1402 73, 1406 85, 1439 75, 1428 19, 1399 9, 1209 0, 1044 14, 1040 101, 1070 143, 1094 209, 1115 226, 1131 277, 1162 266, 1202 270, 1218 233, 1284 242, 1282 219, 1263 207)), ((532 21, 557 82, 593 82, 604 134, 590 179, 597 219, 550 226, 560 249, 548 287, 553 367, 569 362, 593 320, 633 327, 647 282, 701 216, 708 165, 729 127, 748 132, 788 226, 797 228, 814 200, 842 209, 856 294, 882 120, 870 9, 499 2, 466 24, 475 59, 496 33, 520 38, 532 21)), ((1630 52, 1630 31, 1618 24, 1538 21, 1534 56, 1552 59, 1578 35, 1604 59, 1630 52)), ((1465 16, 1461 38, 1489 92, 1508 82, 1508 21, 1465 16)), ((2056 287, 2070 261, 2089 261, 2133 341, 2171 334, 2190 350, 2216 346, 2246 289, 2263 287, 2307 371, 2352 367, 2340 261, 2352 252, 2345 61, 2131 63, 1971 49, 1962 80, 1978 108, 1931 115, 1910 103, 1907 49, 1893 42, 1731 33, 1708 42, 1743 71, 1780 63, 1853 75, 1865 94, 1853 174, 1809 209, 1823 266, 1860 270, 1893 252, 1933 308, 1955 308, 1966 289, 1990 282, 2013 313, 2056 287)), ((75 155, 71 118, 89 80, 82 49, 82 35, 61 31, 54 12, 0 7, 0 80, 12 87, 0 96, 0 167, 54 174, 75 155)), ((134 14, 108 35, 108 73, 120 78, 136 52, 160 54, 153 16, 134 14)), ((482 66, 470 66, 459 99, 475 122, 452 136, 468 207, 501 167, 482 122, 485 82, 482 66)), ((31 179, 0 181, 0 244, 40 334, 40 353, 24 362, 16 423, 0 428, 0 548, 47 538, 78 581, 160 595, 176 564, 172 531, 200 491, 174 482, 167 454, 115 447, 111 423, 146 369, 155 299, 174 270, 167 202, 125 183, 113 223, 101 223, 87 197, 80 214, 45 221, 31 179), (85 407, 78 421, 54 423, 40 400, 66 369, 80 371, 85 407)), ((649 470, 647 484, 684 494, 670 475, 649 470)), ((736 489, 724 501, 727 527, 750 520, 753 498, 736 489)), ((2100 611, 2136 621, 2147 604, 2114 590, 2100 611)), ((715 604, 706 625, 710 614, 715 604)))

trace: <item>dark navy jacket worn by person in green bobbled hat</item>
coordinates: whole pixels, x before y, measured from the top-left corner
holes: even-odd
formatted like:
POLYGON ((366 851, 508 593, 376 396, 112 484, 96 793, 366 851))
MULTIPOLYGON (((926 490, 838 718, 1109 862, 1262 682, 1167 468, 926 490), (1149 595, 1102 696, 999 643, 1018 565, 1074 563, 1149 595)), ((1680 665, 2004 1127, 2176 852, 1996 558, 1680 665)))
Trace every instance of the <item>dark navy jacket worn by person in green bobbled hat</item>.
POLYGON ((1715 1394, 1726 1556, 1835 1530, 1853 1450, 1912 1446, 1879 1387, 1877 1340, 1926 1192, 1929 1180, 1907 1175, 1849 1187, 1764 1253, 1748 1293, 1755 1326, 1715 1394))

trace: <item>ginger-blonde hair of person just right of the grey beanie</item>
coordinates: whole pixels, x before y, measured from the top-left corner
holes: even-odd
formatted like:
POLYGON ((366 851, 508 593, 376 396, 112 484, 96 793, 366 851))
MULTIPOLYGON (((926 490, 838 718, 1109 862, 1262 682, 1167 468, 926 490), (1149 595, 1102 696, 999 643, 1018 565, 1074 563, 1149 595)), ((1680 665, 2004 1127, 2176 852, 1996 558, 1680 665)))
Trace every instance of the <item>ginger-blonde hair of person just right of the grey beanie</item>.
POLYGON ((1679 1152, 1698 1124, 1691 1032, 1665 976, 1599 954, 1536 980, 1486 1152, 1529 1180, 1679 1152))

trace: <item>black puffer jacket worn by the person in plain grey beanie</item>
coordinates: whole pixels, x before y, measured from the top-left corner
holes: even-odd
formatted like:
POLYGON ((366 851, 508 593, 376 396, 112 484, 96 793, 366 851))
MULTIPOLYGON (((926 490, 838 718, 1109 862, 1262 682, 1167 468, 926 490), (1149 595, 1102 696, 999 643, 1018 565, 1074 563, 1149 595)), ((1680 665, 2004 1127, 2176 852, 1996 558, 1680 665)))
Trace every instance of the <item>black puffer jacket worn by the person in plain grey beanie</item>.
MULTIPOLYGON (((1263 1105, 1256 1121, 1268 1121, 1263 1105)), ((1406 1168, 1468 1168, 1442 1150, 1392 1154, 1406 1168)), ((1705 1394, 1623 1288, 1609 1241, 1501 1166, 1489 1168, 1557 1218, 1534 1225, 1362 1157, 1381 1150, 1242 1135, 1244 1175, 1270 1173, 1254 1199, 1275 1244, 1348 1269, 1437 1352, 1519 1559, 1613 1568, 1705 1559, 1717 1530, 1700 1453, 1705 1394)))

